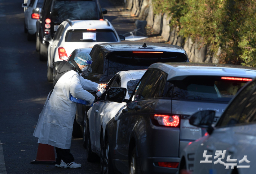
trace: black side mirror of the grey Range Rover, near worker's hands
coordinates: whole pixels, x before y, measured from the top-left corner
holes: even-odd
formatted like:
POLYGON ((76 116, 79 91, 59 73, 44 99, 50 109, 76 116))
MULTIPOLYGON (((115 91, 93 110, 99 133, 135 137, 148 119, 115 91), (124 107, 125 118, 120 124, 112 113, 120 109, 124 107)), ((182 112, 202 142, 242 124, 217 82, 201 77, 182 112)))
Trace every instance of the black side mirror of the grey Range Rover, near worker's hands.
POLYGON ((126 88, 112 87, 107 90, 107 100, 111 102, 122 103, 127 93, 126 88))

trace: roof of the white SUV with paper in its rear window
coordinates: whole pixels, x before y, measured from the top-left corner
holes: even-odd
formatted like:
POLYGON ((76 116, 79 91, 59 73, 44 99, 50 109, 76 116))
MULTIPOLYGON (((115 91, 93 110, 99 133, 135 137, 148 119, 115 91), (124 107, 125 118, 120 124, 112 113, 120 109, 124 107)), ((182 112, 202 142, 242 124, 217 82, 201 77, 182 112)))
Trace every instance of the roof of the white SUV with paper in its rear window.
POLYGON ((67 20, 72 29, 112 29, 107 20, 67 20))

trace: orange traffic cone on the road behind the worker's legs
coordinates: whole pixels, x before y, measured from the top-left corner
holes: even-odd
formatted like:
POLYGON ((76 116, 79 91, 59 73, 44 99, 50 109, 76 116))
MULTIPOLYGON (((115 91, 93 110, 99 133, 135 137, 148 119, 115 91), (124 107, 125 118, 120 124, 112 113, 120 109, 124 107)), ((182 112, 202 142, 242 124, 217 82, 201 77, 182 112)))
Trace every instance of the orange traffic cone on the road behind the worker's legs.
POLYGON ((36 160, 30 161, 30 164, 55 164, 54 147, 47 144, 38 144, 36 160))

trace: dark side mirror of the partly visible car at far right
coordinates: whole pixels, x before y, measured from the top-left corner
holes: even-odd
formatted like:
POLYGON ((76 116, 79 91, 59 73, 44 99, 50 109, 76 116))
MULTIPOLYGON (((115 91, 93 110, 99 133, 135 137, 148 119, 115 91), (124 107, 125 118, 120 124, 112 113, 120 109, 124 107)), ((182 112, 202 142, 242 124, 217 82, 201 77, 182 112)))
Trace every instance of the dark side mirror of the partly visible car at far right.
POLYGON ((213 128, 212 123, 215 117, 214 110, 201 110, 191 115, 189 124, 201 128, 207 128, 207 132, 211 135, 213 128))

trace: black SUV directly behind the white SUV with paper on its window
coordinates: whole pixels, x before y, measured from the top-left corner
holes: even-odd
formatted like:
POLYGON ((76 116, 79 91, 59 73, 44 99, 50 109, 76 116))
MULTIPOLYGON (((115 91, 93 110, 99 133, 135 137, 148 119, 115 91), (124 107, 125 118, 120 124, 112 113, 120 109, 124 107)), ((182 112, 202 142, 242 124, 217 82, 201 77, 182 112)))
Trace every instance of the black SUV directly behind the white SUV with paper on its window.
POLYGON ((36 50, 40 60, 47 60, 48 42, 44 42, 44 36, 50 34, 53 38, 64 20, 104 20, 103 14, 106 13, 98 0, 44 0, 36 23, 36 50))

